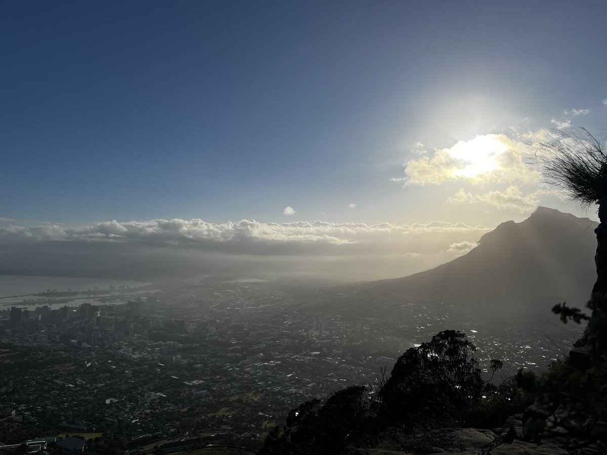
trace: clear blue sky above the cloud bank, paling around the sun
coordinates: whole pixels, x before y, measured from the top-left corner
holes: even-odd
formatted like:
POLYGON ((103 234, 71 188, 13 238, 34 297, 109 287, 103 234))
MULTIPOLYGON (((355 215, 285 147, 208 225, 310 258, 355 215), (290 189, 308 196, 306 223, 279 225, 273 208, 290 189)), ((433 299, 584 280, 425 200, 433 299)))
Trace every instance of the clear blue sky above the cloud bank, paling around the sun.
POLYGON ((418 142, 430 157, 478 135, 524 143, 563 120, 601 134, 605 13, 552 1, 2 2, 0 217, 495 226, 535 202, 575 211, 514 181, 411 184, 403 163, 421 159, 418 142), (513 198, 527 201, 495 202, 513 198))

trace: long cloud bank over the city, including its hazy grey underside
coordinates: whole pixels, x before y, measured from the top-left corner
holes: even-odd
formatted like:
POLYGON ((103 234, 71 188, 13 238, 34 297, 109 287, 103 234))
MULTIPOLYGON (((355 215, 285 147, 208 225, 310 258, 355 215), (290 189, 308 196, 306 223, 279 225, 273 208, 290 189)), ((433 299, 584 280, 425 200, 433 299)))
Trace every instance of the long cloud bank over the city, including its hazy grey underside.
POLYGON ((0 226, 0 270, 130 278, 302 274, 339 280, 399 277, 470 251, 490 227, 424 224, 103 221, 0 226), (132 266, 124 258, 136 258, 132 266), (148 259, 142 260, 142 257, 148 259), (101 272, 100 272, 101 270, 101 272), (53 272, 53 273, 54 273, 53 272))

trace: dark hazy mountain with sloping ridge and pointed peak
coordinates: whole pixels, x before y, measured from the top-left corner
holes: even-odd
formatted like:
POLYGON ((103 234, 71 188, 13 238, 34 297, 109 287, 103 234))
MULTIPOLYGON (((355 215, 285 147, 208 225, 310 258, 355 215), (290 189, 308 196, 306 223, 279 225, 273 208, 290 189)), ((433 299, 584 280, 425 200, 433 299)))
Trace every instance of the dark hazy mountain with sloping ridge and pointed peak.
POLYGON ((594 228, 598 223, 555 209, 538 209, 521 223, 506 221, 466 255, 434 269, 367 283, 362 292, 437 298, 495 311, 549 309, 566 301, 583 307, 596 279, 594 228))

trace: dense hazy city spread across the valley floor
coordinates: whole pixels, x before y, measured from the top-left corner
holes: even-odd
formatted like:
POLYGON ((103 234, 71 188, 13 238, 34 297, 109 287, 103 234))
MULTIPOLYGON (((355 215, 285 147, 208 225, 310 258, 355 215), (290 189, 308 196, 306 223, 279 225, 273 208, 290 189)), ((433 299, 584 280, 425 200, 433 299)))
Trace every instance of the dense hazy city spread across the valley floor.
POLYGON ((0 442, 7 449, 72 434, 83 444, 120 440, 117 453, 255 451, 299 403, 371 385, 405 349, 443 329, 466 332, 481 362, 504 361, 503 374, 546 366, 578 331, 555 324, 500 336, 477 309, 305 281, 202 280, 84 296, 80 306, 56 309, 83 293, 4 304, 0 442))

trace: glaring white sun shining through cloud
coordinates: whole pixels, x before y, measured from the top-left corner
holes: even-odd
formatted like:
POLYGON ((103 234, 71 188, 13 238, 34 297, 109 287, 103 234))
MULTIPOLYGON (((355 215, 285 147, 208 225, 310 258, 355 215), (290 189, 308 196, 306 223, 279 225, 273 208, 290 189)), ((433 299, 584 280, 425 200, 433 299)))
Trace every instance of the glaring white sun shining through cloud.
POLYGON ((447 150, 451 157, 458 160, 461 166, 454 169, 454 177, 476 177, 498 168, 497 158, 508 146, 496 134, 476 136, 469 141, 458 141, 447 150))

